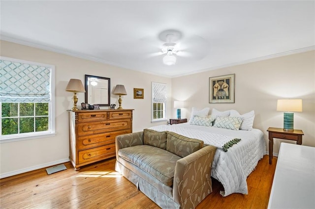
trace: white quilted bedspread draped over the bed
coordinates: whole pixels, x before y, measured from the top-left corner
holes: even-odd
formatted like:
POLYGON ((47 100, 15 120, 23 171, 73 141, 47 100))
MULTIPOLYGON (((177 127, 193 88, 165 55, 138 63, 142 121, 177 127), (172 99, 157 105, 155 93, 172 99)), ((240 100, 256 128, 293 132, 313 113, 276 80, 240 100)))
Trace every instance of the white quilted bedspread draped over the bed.
POLYGON ((218 149, 213 161, 211 176, 222 183, 224 191, 220 193, 223 197, 232 193, 248 194, 246 179, 266 152, 263 132, 258 129, 234 131, 215 127, 195 126, 189 123, 171 126, 161 125, 149 129, 173 131, 190 138, 203 140, 205 144, 217 146, 218 149), (224 152, 221 147, 234 138, 242 140, 230 147, 228 152, 224 152))

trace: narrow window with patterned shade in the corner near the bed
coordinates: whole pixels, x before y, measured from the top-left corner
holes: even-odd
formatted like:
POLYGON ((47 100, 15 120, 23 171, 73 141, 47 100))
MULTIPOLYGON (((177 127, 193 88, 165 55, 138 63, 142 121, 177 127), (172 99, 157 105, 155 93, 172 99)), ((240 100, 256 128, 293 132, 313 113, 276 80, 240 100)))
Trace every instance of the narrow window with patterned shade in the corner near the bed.
POLYGON ((152 82, 152 122, 166 120, 166 86, 152 82))

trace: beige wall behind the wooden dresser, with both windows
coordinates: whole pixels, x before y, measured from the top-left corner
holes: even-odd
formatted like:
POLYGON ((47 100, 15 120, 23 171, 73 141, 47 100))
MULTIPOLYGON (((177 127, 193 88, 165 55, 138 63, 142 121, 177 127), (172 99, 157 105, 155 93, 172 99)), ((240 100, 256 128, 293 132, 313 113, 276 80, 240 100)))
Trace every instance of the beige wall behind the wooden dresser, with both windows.
MULTIPOLYGON (((73 94, 64 89, 70 78, 81 79, 83 83, 85 74, 111 78, 111 91, 117 84, 124 84, 127 95, 122 96, 122 106, 126 109, 134 109, 133 131, 141 131, 144 128, 162 124, 151 123, 152 81, 166 83, 167 96, 171 100, 171 78, 130 71, 6 41, 0 42, 0 55, 55 65, 56 77, 56 135, 48 138, 0 144, 1 177, 68 161, 68 114, 66 110, 71 109, 73 105, 71 102, 73 94), (143 100, 133 99, 133 88, 144 89, 143 100)), ((78 93, 77 96, 78 104, 84 102, 84 93, 78 93)), ((111 103, 118 106, 118 96, 111 95, 111 103)), ((170 109, 170 107, 171 103, 168 104, 167 108, 170 109)), ((171 111, 168 111, 168 115, 171 115, 171 111)))

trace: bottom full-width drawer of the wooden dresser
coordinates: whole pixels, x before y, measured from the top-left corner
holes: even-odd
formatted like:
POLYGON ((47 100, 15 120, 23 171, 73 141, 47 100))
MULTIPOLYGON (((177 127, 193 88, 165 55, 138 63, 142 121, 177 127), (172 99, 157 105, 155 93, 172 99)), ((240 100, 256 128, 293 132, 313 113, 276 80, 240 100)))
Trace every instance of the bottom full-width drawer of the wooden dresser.
POLYGON ((102 147, 92 148, 78 152, 79 163, 85 163, 89 161, 98 161, 102 158, 115 157, 115 144, 110 144, 102 147))

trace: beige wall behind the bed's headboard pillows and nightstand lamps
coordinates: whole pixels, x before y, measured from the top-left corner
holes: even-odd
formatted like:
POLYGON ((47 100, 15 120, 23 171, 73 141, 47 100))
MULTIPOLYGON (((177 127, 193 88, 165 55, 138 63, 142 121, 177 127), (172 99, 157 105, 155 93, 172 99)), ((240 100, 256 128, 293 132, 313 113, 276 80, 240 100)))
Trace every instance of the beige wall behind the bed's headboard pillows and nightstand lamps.
MULTIPOLYGON (((294 128, 304 132, 303 145, 315 147, 315 51, 172 78, 172 95, 174 100, 185 101, 182 117, 187 118, 191 106, 236 109, 240 114, 254 110, 254 128, 264 132, 267 149, 268 127, 283 128, 277 99, 302 99, 303 112, 294 113, 294 128), (235 104, 209 104, 209 77, 227 74, 235 74, 235 104)), ((274 153, 278 154, 282 141, 294 143, 276 139, 274 153)))

